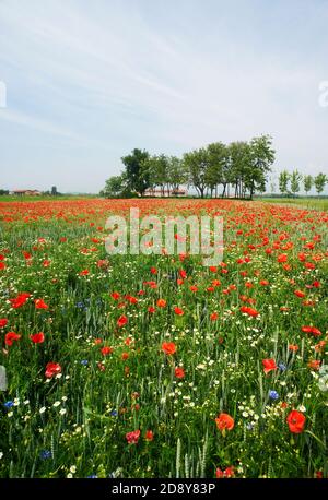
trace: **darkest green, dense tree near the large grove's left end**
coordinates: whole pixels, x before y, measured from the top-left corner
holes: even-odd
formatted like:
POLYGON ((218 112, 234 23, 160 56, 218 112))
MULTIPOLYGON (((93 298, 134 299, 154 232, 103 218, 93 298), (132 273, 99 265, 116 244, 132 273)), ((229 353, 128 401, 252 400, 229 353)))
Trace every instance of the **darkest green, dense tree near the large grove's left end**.
POLYGON ((147 188, 150 187, 150 174, 148 171, 149 165, 145 162, 149 158, 147 151, 134 148, 128 156, 121 158, 126 167, 126 178, 128 188, 136 191, 141 197, 147 188))

